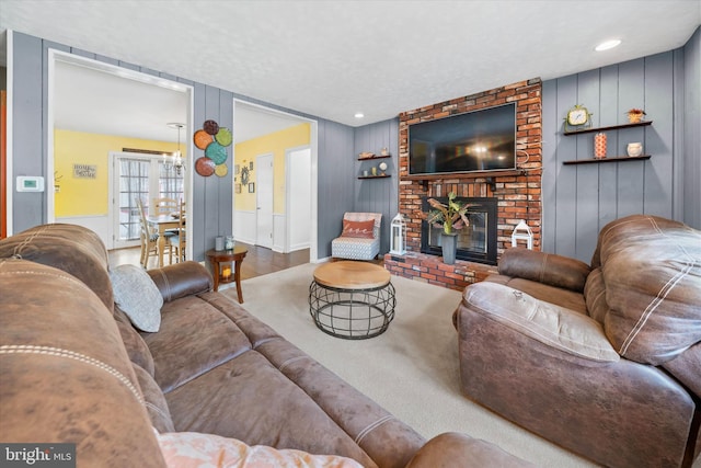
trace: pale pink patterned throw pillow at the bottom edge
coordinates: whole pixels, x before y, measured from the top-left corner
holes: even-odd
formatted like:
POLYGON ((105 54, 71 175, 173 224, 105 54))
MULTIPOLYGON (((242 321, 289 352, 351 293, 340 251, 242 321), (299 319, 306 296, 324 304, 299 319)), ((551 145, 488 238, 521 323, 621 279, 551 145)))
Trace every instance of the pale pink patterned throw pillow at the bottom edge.
POLYGON ((311 455, 291 448, 249 446, 235 438, 196 432, 157 434, 165 465, 169 467, 299 467, 363 468, 352 458, 336 455, 311 455))

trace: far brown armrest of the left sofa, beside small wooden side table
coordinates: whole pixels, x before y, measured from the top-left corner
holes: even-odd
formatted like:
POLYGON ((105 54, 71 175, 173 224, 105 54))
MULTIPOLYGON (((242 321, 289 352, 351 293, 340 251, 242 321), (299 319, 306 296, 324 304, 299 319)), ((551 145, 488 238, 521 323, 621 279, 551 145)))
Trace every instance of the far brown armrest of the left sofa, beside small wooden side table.
POLYGON ((206 293, 214 285, 214 279, 207 269, 193 261, 149 270, 147 273, 156 283, 165 303, 193 294, 206 293))

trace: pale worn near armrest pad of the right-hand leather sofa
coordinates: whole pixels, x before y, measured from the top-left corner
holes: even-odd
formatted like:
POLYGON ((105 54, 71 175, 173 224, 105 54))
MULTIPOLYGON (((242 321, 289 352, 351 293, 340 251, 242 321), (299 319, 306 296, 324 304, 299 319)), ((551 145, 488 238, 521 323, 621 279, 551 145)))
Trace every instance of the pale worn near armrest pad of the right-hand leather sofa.
POLYGON ((497 283, 466 288, 462 305, 505 327, 572 355, 597 362, 620 359, 599 322, 497 283))

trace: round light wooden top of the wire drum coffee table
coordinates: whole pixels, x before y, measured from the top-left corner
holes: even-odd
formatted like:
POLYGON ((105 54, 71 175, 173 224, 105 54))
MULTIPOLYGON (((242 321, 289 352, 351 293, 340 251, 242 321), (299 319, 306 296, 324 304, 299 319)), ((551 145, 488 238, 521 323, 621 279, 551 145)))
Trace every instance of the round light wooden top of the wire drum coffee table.
POLYGON ((314 281, 338 289, 371 289, 390 282, 390 272, 368 262, 330 262, 314 270, 314 281))

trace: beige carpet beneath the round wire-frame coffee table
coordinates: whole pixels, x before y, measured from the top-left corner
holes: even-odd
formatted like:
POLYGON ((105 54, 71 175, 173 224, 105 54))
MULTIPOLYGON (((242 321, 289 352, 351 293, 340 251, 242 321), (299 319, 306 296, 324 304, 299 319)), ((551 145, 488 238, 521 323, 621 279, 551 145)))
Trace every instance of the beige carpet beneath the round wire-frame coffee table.
MULTIPOLYGON (((243 306, 427 438, 458 431, 542 467, 595 466, 461 395, 451 322, 460 293, 392 276, 397 315, 388 331, 369 340, 342 340, 317 329, 309 313, 317 266, 244 281, 243 306)), ((235 289, 223 293, 235 298, 235 289)))

